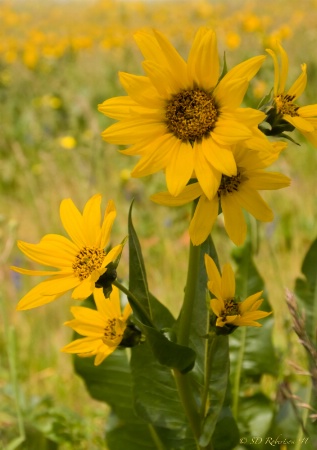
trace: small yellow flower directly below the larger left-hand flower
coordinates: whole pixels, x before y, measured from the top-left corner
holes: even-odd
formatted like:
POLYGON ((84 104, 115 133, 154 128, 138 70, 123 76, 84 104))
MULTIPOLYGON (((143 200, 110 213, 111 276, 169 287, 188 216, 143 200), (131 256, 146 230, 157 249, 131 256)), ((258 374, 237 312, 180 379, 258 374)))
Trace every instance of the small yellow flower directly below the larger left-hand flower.
POLYGON ((62 352, 76 353, 81 357, 95 357, 99 366, 120 345, 127 320, 132 312, 129 303, 121 313, 119 290, 113 287, 110 298, 106 299, 102 289, 94 290, 97 310, 83 306, 73 306, 75 319, 65 322, 77 333, 85 336, 62 348, 62 352))

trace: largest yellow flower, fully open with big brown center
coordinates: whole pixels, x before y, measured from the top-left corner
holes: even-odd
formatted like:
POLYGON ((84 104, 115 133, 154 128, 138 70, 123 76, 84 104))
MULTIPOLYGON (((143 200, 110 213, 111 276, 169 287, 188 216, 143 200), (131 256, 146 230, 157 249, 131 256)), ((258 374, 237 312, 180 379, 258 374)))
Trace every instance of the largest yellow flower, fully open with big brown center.
POLYGON ((252 137, 251 127, 265 118, 239 108, 265 56, 248 59, 219 81, 216 35, 206 27, 198 30, 187 63, 156 30, 139 31, 135 40, 146 76, 120 73, 128 95, 99 105, 119 120, 102 136, 132 145, 123 150, 127 155, 141 155, 132 176, 165 170, 167 188, 177 196, 194 173, 210 199, 220 173, 237 173, 231 145, 252 137))

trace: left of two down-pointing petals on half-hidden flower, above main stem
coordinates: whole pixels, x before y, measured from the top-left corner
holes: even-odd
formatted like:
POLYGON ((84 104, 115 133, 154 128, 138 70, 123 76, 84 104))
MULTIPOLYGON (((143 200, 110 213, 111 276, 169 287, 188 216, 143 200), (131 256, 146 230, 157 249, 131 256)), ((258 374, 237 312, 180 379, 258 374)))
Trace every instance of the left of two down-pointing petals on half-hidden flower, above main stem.
POLYGON ((212 200, 208 200, 205 195, 200 197, 189 225, 189 235, 193 245, 200 245, 207 239, 217 219, 218 208, 217 196, 212 200))

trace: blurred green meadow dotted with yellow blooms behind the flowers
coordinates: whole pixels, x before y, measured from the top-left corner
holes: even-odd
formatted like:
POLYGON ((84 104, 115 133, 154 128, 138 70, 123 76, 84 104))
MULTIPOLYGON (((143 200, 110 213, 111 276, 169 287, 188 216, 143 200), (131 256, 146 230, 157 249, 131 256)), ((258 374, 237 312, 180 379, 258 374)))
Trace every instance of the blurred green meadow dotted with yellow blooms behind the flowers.
MULTIPOLYGON (((63 198, 71 197, 80 208, 96 192, 102 193, 104 206, 113 199, 118 210, 114 243, 127 234, 134 198, 150 288, 178 312, 190 210, 150 202, 150 194, 164 189, 163 177, 130 178, 136 159, 102 141, 100 133, 110 120, 97 105, 123 95, 119 70, 142 73, 132 37, 137 29, 159 29, 186 58, 201 25, 217 32, 229 68, 263 54, 280 39, 290 58, 289 83, 300 74, 301 63, 308 65, 308 87, 299 103, 317 102, 317 0, 0 1, 1 449, 106 448, 107 408, 88 396, 73 373, 71 357, 60 353, 71 339, 62 324, 70 319, 74 302, 65 296, 44 308, 15 311, 38 281, 10 271, 11 264, 34 268, 19 253, 16 240, 36 243, 44 234, 63 234, 63 198), (23 430, 29 439, 19 446, 15 439, 23 430)), ((246 104, 256 107, 272 86, 273 65, 267 58, 251 82, 246 104)), ((274 345, 282 368, 279 380, 263 377, 267 395, 275 395, 276 384, 284 380, 306 383, 296 367, 305 367, 305 358, 291 331, 285 287, 294 288, 317 236, 317 149, 296 137, 302 145, 289 143, 273 168, 291 177, 291 187, 263 194, 274 222, 259 228, 252 224, 258 236, 255 263, 274 311, 274 345)), ((220 220, 215 242, 223 264, 234 245, 220 220)), ((119 277, 126 276, 124 252, 119 277)))

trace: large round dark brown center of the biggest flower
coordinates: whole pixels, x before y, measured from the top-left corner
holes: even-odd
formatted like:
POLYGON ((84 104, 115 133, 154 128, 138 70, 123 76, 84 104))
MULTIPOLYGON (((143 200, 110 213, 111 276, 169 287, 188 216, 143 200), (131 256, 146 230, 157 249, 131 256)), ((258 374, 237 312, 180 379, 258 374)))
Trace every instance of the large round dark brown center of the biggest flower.
POLYGON ((201 89, 183 90, 167 102, 168 130, 182 141, 196 141, 215 127, 218 109, 214 98, 201 89))

